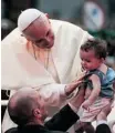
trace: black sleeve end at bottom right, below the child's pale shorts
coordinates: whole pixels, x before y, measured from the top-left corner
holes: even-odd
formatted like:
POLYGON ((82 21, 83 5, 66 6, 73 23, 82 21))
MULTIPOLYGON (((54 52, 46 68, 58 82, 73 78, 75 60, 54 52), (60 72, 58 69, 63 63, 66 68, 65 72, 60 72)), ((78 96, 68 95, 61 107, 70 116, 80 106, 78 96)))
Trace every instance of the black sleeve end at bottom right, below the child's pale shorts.
POLYGON ((100 124, 95 133, 112 133, 107 124, 100 124))

